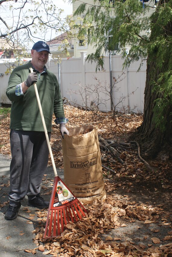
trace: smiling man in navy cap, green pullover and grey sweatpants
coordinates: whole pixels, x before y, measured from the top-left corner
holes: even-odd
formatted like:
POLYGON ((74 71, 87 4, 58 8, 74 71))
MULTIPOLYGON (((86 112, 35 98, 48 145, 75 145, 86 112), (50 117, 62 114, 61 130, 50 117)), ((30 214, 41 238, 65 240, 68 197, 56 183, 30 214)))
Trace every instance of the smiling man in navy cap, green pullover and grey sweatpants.
POLYGON ((36 82, 44 119, 50 138, 53 112, 60 125, 62 137, 69 135, 63 110, 63 100, 56 76, 45 64, 50 53, 49 46, 38 41, 31 50, 32 60, 16 67, 8 82, 6 94, 11 100, 9 206, 6 220, 18 216, 21 200, 28 196, 28 205, 48 208, 49 202, 40 196, 40 185, 48 164, 48 146, 37 104, 33 83, 36 82), (30 68, 33 69, 31 73, 30 68))

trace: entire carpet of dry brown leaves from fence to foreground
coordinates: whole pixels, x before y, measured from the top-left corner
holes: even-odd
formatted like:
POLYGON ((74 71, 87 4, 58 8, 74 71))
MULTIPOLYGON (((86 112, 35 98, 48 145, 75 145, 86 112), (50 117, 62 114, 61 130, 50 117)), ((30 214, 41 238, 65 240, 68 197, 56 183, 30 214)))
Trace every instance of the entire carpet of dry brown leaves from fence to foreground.
MULTIPOLYGON (((61 236, 43 239, 47 211, 37 211, 33 231, 35 249, 25 252, 52 256, 171 256, 171 163, 153 160, 146 165, 138 156, 138 145, 128 135, 141 125, 142 116, 93 113, 64 106, 67 127, 93 125, 100 141, 102 170, 107 198, 84 205, 88 216, 69 222, 61 236), (115 157, 109 146, 119 154, 115 157), (122 161, 120 161, 122 160, 122 161), (153 168, 153 169, 151 169, 153 168)), ((10 154, 9 116, 0 122, 0 153, 10 154)), ((53 125, 51 147, 57 168, 63 168, 60 130, 53 125)), ((51 161, 49 160, 49 165, 51 161)), ((43 180, 44 194, 51 194, 43 180)), ((31 217, 32 220, 33 217, 31 217)))

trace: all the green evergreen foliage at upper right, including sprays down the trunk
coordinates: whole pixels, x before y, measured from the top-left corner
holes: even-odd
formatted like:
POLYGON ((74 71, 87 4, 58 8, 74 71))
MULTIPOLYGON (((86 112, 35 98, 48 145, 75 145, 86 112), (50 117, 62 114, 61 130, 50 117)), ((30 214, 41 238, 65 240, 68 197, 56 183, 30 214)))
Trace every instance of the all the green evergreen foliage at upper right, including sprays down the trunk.
POLYGON ((156 6, 150 5, 151 1, 144 8, 140 0, 101 0, 93 5, 82 1, 82 8, 74 15, 85 14, 80 35, 83 33, 94 48, 87 60, 96 62, 96 71, 103 68, 103 55, 109 53, 109 35, 112 44, 119 44, 117 53, 124 59, 123 68, 138 60, 140 67, 144 60, 151 65, 146 83, 156 96, 154 123, 164 131, 166 113, 172 106, 172 0, 160 0, 156 6), (128 54, 126 46, 130 47, 128 54))

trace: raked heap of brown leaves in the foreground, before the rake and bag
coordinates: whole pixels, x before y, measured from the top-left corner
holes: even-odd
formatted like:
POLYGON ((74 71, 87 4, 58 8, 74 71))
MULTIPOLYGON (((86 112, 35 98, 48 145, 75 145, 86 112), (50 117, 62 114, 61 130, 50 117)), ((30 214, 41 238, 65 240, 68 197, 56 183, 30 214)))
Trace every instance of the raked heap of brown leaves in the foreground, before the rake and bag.
MULTIPOLYGON (((123 197, 122 200, 125 198, 126 197, 123 197)), ((143 204, 139 205, 137 202, 124 205, 122 200, 117 200, 113 197, 107 196, 104 201, 95 201, 87 206, 89 210, 88 217, 84 217, 82 220, 79 220, 76 223, 72 223, 71 221, 68 222, 66 225, 66 230, 61 234, 61 236, 58 236, 52 240, 43 240, 42 237, 44 229, 42 228, 40 231, 39 228, 36 228, 34 233, 38 233, 39 236, 35 236, 35 238, 37 238, 37 240, 40 242, 38 250, 42 251, 44 255, 51 254, 53 256, 58 256, 58 254, 60 254, 60 256, 80 255, 89 257, 124 257, 126 255, 133 257, 135 256, 135 252, 137 252, 137 256, 158 257, 162 254, 162 252, 164 252, 164 254, 169 253, 171 245, 168 246, 167 244, 166 246, 161 245, 158 247, 148 244, 149 248, 147 249, 147 247, 142 243, 136 245, 134 241, 123 241, 124 238, 113 237, 110 234, 105 236, 104 240, 101 239, 100 235, 105 234, 107 229, 112 229, 113 227, 127 227, 125 223, 120 223, 120 218, 126 216, 121 216, 121 213, 125 213, 123 210, 128 211, 129 209, 130 213, 135 210, 135 215, 138 215, 139 213, 139 215, 142 215, 142 219, 143 217, 151 217, 151 213, 154 213, 154 216, 156 216, 156 212, 161 210, 159 207, 155 209, 151 206, 146 206, 143 204), (122 206, 126 209, 123 209, 122 206)), ((38 216, 40 216, 42 212, 37 213, 38 216)), ((148 220, 145 219, 144 221, 148 220)), ((147 224, 149 225, 151 223, 147 224)), ((152 230, 152 232, 156 232, 156 230, 152 230)), ((169 235, 164 238, 164 241, 170 240, 171 235, 169 232, 169 235)), ((161 242, 161 240, 157 237, 151 237, 151 240, 155 245, 160 244, 161 242)))

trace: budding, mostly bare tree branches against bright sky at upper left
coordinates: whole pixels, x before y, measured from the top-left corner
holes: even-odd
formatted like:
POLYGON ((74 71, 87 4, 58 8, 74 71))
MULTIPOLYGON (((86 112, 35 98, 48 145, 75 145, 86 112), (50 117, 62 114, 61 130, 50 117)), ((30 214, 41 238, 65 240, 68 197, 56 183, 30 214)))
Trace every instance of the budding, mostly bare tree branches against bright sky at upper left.
MULTIPOLYGON (((6 55, 11 49, 14 56, 28 56, 31 41, 50 41, 54 34, 69 29, 70 18, 61 18, 63 10, 52 0, 0 0, 0 11, 0 39, 6 55)), ((62 46, 65 50, 70 47, 67 42, 62 46)))

